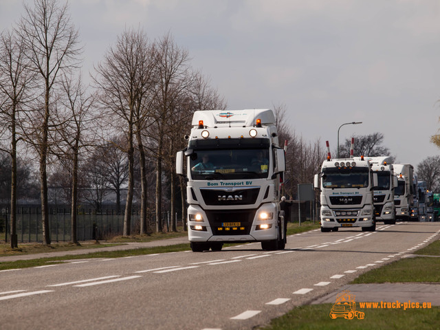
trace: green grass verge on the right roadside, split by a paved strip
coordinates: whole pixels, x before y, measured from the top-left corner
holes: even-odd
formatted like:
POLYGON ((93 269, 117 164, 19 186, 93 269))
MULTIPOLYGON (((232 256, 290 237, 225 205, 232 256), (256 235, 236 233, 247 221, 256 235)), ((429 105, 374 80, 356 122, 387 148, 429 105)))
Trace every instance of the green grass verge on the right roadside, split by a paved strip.
MULTIPOLYGON (((426 248, 414 252, 420 256, 400 259, 383 267, 376 268, 356 278, 352 284, 360 283, 398 283, 421 282, 440 283, 440 241, 434 241, 426 248)), ((305 305, 296 307, 289 313, 275 318, 270 325, 261 330, 357 330, 357 329, 439 329, 440 307, 432 306, 426 309, 361 309, 365 318, 332 320, 329 312, 333 304, 305 305)))

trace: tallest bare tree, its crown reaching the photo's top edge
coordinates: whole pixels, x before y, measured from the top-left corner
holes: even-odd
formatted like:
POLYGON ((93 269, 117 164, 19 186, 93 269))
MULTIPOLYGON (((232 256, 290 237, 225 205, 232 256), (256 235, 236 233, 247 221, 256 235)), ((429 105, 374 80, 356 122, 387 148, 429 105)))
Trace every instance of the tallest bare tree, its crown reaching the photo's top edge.
POLYGON ((50 149, 49 131, 54 85, 60 74, 67 73, 78 64, 80 47, 78 31, 67 12, 67 3, 56 0, 34 0, 34 8, 24 4, 25 14, 16 32, 23 39, 28 59, 34 72, 39 74, 43 89, 43 102, 34 108, 27 122, 26 140, 39 155, 41 183, 41 217, 43 243, 50 245, 49 214, 47 209, 47 157, 50 149))

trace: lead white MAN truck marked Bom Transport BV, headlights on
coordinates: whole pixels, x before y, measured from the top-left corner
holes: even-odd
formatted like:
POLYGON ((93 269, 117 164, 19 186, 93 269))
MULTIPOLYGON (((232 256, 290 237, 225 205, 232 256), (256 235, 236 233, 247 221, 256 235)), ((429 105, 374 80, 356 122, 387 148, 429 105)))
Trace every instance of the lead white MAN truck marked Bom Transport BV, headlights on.
POLYGON ((193 252, 241 242, 285 248, 279 203, 285 153, 272 110, 195 111, 188 146, 176 156, 177 174, 184 175, 184 163, 193 252))

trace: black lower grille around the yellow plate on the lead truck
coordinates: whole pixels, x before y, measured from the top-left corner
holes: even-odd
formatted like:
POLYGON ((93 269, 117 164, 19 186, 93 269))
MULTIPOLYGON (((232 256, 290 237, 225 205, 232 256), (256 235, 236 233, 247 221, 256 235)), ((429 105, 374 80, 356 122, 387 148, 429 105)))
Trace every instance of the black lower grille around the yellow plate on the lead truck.
POLYGON ((205 210, 205 212, 212 229, 212 234, 248 235, 256 210, 205 210), (224 227, 223 223, 239 223, 239 225, 226 230, 227 227, 224 227))

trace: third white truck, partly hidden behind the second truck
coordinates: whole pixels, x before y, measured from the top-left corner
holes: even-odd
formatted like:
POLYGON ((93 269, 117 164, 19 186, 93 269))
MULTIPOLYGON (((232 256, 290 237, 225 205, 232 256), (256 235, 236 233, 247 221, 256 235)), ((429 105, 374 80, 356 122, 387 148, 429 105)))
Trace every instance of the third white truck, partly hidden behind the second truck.
POLYGON ((384 156, 365 159, 369 160, 371 169, 377 173, 377 186, 373 187, 376 221, 395 224, 394 189, 397 187, 397 177, 393 175, 393 158, 384 156))

